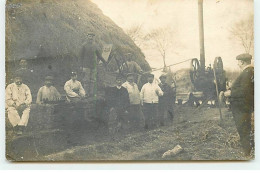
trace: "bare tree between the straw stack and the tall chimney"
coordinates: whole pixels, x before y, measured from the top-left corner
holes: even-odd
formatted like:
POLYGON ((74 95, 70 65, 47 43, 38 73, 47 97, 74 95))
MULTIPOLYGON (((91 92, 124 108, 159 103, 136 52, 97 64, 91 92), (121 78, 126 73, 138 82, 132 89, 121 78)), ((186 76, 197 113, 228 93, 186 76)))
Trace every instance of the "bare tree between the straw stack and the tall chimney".
POLYGON ((173 32, 169 28, 157 28, 145 36, 145 40, 156 49, 162 56, 164 68, 166 69, 166 54, 173 45, 173 32))

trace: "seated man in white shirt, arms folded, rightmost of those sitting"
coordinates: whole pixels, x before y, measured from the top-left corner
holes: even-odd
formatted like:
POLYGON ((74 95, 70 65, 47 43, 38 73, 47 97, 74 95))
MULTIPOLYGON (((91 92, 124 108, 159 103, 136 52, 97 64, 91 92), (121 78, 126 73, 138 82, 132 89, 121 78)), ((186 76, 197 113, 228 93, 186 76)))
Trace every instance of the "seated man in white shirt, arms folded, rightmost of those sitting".
POLYGON ((69 102, 77 102, 86 94, 80 81, 77 80, 76 72, 71 72, 71 79, 65 83, 64 90, 69 102))

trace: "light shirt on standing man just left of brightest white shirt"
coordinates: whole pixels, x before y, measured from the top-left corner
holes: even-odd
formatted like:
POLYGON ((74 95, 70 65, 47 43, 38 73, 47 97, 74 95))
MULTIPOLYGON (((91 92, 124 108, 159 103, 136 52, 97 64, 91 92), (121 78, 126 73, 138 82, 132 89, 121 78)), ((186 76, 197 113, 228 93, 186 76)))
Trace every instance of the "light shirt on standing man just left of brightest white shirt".
POLYGON ((125 87, 128 91, 130 104, 137 105, 141 103, 140 92, 136 83, 130 84, 128 81, 126 81, 122 86, 125 87))

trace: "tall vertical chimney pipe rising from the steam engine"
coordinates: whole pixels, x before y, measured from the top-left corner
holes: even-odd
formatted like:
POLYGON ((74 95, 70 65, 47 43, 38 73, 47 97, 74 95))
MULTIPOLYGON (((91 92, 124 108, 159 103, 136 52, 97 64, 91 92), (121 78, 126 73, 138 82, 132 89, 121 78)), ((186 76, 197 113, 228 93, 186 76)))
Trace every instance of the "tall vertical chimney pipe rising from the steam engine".
POLYGON ((200 36, 200 67, 205 72, 205 50, 204 50, 204 26, 203 26, 203 0, 198 0, 199 36, 200 36))

